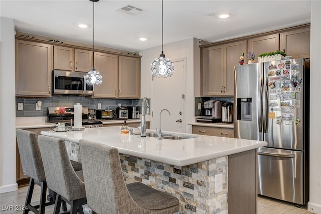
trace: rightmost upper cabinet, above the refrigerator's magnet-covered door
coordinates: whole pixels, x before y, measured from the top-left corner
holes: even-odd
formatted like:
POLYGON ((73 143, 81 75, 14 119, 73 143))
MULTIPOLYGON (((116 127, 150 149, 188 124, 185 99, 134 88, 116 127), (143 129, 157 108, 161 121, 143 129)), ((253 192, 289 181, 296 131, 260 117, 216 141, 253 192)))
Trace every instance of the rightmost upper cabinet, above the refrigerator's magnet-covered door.
POLYGON ((280 33, 280 50, 292 58, 309 58, 310 27, 280 33))

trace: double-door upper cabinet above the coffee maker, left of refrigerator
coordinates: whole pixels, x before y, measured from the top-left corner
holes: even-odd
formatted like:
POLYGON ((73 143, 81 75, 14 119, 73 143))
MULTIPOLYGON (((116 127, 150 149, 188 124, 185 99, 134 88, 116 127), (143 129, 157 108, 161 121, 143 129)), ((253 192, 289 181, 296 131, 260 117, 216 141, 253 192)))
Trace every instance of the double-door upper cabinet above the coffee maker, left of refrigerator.
POLYGON ((233 96, 234 65, 246 53, 246 40, 202 49, 202 96, 233 96))

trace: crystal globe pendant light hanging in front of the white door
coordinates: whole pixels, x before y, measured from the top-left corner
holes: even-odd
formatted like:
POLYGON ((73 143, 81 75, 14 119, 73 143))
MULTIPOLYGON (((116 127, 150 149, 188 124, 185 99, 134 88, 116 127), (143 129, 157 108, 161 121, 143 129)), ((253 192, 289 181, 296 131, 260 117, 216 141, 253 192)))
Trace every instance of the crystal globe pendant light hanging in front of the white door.
POLYGON ((162 53, 150 65, 152 76, 171 77, 174 73, 174 64, 163 52, 163 0, 162 0, 162 53))

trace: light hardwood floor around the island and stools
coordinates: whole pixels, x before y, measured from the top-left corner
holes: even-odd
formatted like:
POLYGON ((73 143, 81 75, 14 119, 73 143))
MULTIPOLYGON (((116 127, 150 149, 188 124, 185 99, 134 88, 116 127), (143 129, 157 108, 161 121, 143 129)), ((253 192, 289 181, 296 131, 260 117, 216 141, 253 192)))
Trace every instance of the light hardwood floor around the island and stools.
MULTIPOLYGON (((0 213, 23 213, 22 207, 25 204, 28 186, 20 187, 17 191, 7 192, 0 194, 0 213)), ((32 203, 39 202, 40 187, 35 185, 32 203)), ((67 208, 69 205, 67 204, 67 208)), ((307 211, 305 208, 295 207, 292 203, 258 196, 257 199, 257 213, 258 214, 310 214, 312 212, 307 211)), ((53 213, 54 205, 46 207, 46 214, 53 213)), ((32 212, 30 212, 32 213, 32 212)))

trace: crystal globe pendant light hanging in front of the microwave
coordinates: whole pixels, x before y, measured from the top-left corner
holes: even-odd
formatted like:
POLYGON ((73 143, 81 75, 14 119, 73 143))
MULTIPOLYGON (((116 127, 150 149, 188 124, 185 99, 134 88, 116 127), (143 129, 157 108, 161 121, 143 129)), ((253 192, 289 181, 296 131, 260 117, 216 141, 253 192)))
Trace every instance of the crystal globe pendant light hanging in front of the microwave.
POLYGON ((99 0, 89 0, 93 2, 93 39, 92 39, 92 46, 93 46, 93 55, 92 55, 92 69, 86 74, 86 83, 90 85, 100 85, 102 83, 102 76, 100 75, 99 71, 95 69, 95 2, 99 0))

